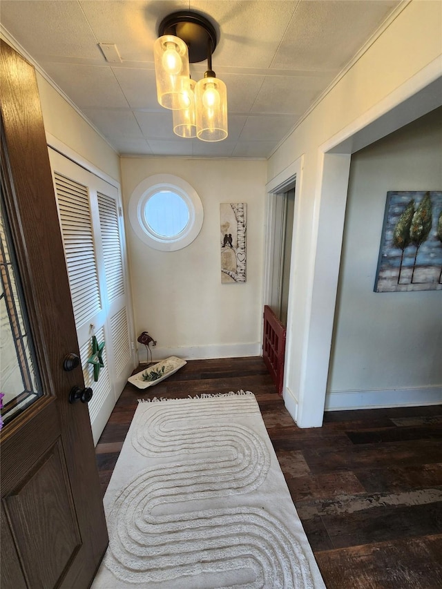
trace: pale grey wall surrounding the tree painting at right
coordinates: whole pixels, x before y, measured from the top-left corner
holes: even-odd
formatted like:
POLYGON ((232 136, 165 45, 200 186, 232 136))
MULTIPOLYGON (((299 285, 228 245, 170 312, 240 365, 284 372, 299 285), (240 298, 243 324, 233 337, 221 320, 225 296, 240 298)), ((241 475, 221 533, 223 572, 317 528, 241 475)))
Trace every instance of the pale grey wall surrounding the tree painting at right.
POLYGON ((326 407, 442 401, 442 292, 374 292, 387 191, 441 189, 442 108, 352 155, 326 407))

